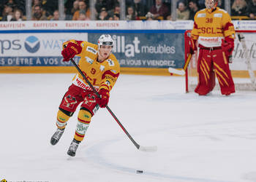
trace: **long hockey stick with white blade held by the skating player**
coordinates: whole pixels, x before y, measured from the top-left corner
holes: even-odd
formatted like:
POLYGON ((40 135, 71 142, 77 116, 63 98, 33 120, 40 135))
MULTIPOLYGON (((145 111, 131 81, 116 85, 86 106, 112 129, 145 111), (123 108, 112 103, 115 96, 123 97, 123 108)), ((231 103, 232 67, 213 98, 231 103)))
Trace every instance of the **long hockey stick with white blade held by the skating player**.
MULTIPOLYGON (((73 63, 73 65, 75 66, 75 68, 78 69, 79 73, 83 76, 83 79, 86 80, 86 83, 89 84, 89 86, 91 87, 91 89, 94 91, 94 93, 97 95, 98 98, 100 98, 99 93, 97 92, 97 90, 94 89, 94 86, 91 84, 91 82, 89 82, 89 80, 86 78, 86 76, 83 74, 83 72, 80 70, 80 68, 78 67, 78 65, 75 63, 75 60, 70 59, 71 62, 73 63)), ((110 112, 110 114, 113 116, 113 118, 116 120, 116 122, 119 124, 119 126, 121 127, 122 130, 124 130, 125 134, 127 134, 127 136, 129 137, 129 139, 132 141, 132 143, 136 146, 137 149, 139 149, 140 151, 157 151, 157 146, 140 146, 133 138, 131 135, 129 135, 129 132, 127 132, 127 130, 124 128, 123 124, 121 124, 121 122, 119 122, 118 118, 116 117, 115 114, 113 114, 113 111, 111 111, 111 109, 108 107, 108 105, 106 105, 106 108, 108 109, 108 111, 110 112)))

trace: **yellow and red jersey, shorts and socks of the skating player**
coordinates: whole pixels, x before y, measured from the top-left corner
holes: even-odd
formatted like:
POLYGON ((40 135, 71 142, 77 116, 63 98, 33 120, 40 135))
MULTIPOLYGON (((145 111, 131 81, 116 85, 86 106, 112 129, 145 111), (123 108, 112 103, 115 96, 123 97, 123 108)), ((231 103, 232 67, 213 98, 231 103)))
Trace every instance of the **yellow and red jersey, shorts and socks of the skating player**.
MULTIPOLYGON (((95 90, 105 90, 110 92, 113 88, 120 73, 120 66, 116 57, 110 53, 109 57, 99 63, 98 61, 98 45, 91 44, 88 41, 75 41, 70 40, 64 42, 63 47, 72 43, 75 47, 71 49, 77 52, 80 57, 78 66, 86 78, 94 86, 95 90), (80 50, 80 51, 78 51, 80 50)), ((80 103, 80 111, 78 113, 78 124, 75 130, 75 140, 83 141, 84 135, 91 122, 91 117, 99 109, 96 101, 97 95, 91 90, 89 84, 83 79, 80 73, 76 74, 72 79, 72 85, 65 93, 64 98, 59 106, 57 114, 57 127, 64 129, 69 117, 75 112, 80 103)))

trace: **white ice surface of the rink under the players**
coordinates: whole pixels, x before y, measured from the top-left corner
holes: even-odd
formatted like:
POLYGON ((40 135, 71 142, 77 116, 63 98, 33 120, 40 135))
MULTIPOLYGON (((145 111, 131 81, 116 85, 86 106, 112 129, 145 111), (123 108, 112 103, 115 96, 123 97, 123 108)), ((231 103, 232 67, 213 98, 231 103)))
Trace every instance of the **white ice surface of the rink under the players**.
POLYGON ((78 113, 56 146, 50 137, 73 75, 0 74, 0 181, 256 181, 256 92, 198 96, 183 77, 121 75, 108 106, 158 151, 138 151, 102 108, 70 159, 78 113))

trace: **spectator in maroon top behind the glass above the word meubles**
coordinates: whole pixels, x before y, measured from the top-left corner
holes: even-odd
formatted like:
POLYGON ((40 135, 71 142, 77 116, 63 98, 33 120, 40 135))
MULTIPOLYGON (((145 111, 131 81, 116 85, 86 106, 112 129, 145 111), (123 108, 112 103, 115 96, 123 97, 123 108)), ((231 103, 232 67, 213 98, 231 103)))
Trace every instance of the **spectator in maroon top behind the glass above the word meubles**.
POLYGON ((151 7, 149 12, 154 15, 153 19, 166 20, 166 17, 169 15, 170 11, 165 4, 162 4, 162 0, 156 0, 156 4, 151 7))

